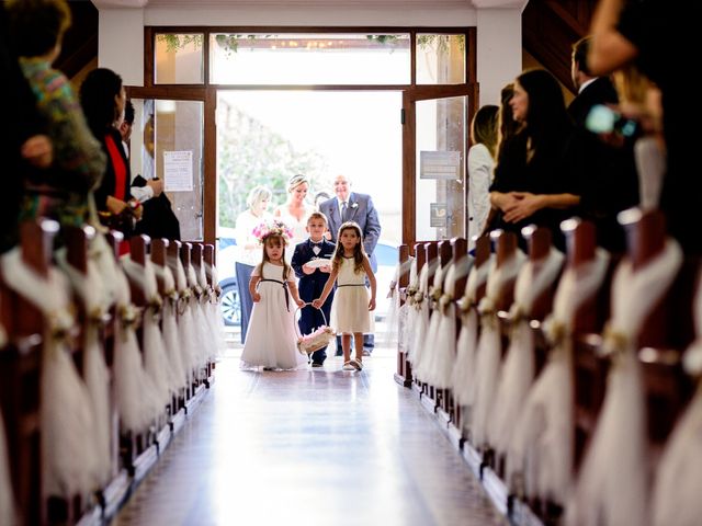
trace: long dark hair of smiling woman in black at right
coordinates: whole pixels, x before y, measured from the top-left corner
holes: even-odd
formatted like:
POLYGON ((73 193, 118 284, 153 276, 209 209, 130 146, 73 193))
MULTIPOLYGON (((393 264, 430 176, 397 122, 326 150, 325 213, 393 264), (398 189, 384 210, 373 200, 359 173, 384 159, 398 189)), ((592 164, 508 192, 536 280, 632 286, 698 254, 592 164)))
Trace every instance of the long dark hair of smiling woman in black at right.
POLYGON ((525 130, 534 155, 547 152, 552 146, 561 144, 554 141, 554 137, 563 138, 573 128, 561 85, 545 69, 528 69, 517 77, 517 83, 529 95, 525 130))

